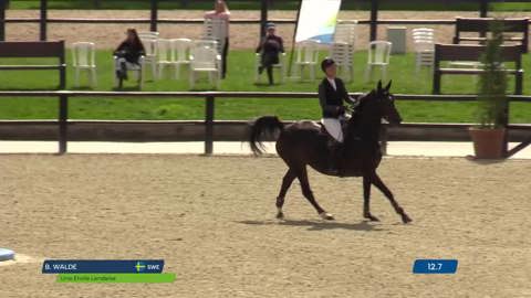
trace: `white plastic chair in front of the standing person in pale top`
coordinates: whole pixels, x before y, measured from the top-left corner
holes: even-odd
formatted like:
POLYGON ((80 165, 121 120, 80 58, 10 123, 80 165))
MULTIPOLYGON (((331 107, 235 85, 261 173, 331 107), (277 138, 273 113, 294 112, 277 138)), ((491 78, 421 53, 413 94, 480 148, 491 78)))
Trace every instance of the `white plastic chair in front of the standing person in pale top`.
POLYGON ((221 81, 221 56, 215 41, 197 41, 190 51, 190 88, 194 88, 197 73, 208 73, 210 84, 219 87, 221 81))

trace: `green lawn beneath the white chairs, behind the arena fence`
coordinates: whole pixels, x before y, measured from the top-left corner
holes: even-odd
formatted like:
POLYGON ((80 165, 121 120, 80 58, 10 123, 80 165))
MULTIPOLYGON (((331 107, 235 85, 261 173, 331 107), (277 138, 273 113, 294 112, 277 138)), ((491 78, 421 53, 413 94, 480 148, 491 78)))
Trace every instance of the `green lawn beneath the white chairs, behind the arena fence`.
MULTIPOLYGON (((97 91, 113 91, 113 65, 111 51, 97 52, 98 86, 97 91)), ((375 83, 365 84, 363 73, 366 53, 355 54, 354 82, 347 85, 350 92, 367 92, 375 83)), ((52 63, 50 60, 0 60, 2 64, 52 63)), ((67 62, 71 62, 70 52, 67 62)), ((431 75, 424 71, 415 75, 413 54, 393 55, 388 77, 393 78, 393 92, 400 94, 430 94, 431 75)), ((530 70, 529 55, 524 56, 524 68, 530 70)), ((314 82, 287 82, 274 86, 254 85, 254 55, 250 51, 231 51, 229 56, 228 77, 220 91, 257 91, 257 92, 316 92, 319 79, 314 82)), ((187 73, 181 79, 167 78, 148 81, 144 91, 189 91, 187 73)), ((321 73, 319 72, 319 77, 321 73)), ((264 79, 264 77, 262 78, 264 79)), ((58 86, 58 73, 52 71, 0 72, 0 89, 53 89, 58 86)), ((82 84, 86 75, 82 74, 82 84)), ((136 84, 126 82, 125 88, 133 91, 136 84)), ((211 89, 205 79, 197 85, 197 91, 211 89)), ((513 86, 512 78, 509 84, 513 86)), ((531 94, 531 74, 525 73, 524 94, 531 94)), ((67 70, 67 88, 73 87, 73 70, 67 70)), ((87 89, 83 87, 81 89, 87 89)), ((447 76, 442 79, 442 92, 446 94, 473 94, 476 81, 471 76, 447 76)), ((204 99, 153 99, 153 98, 72 98, 70 117, 73 119, 149 119, 149 120, 185 120, 204 119, 204 99)), ((403 102, 398 108, 406 121, 475 121, 475 103, 434 103, 403 102)), ((58 100, 54 98, 2 98, 0 97, 0 119, 53 119, 56 118, 58 100)), ((216 119, 251 119, 261 115, 279 115, 283 119, 319 119, 317 99, 257 99, 257 98, 218 98, 216 99, 216 119)), ((512 123, 531 123, 531 105, 511 104, 512 123)))

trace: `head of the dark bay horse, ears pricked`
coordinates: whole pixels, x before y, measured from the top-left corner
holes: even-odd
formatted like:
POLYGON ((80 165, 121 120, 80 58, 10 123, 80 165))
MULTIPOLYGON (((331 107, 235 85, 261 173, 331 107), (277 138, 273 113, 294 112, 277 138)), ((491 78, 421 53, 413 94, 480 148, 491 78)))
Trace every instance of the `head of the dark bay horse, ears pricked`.
POLYGON ((395 106, 395 97, 389 92, 391 81, 387 86, 382 87, 382 81, 378 82, 376 89, 363 95, 360 98, 360 105, 356 108, 363 113, 368 113, 378 119, 384 118, 392 125, 402 123, 402 117, 395 106))

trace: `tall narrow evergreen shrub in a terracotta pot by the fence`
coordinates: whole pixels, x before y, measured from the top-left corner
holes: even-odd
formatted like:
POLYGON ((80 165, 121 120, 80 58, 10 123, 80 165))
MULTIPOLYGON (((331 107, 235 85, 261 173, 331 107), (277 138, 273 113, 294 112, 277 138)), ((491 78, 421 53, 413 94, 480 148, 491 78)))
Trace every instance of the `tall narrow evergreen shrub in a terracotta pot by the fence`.
POLYGON ((478 85, 478 126, 469 129, 476 158, 499 159, 506 153, 507 73, 503 67, 503 24, 494 21, 492 38, 481 55, 483 72, 478 85))

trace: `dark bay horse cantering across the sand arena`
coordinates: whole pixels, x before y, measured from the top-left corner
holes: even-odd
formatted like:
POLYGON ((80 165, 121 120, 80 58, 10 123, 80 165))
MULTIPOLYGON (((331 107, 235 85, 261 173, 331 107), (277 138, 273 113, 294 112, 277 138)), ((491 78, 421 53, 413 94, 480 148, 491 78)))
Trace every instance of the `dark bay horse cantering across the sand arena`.
MULTIPOLYGON (((376 187, 389 200, 404 223, 412 219, 396 202, 393 193, 376 173, 376 168, 382 161, 379 147, 379 131, 382 119, 392 125, 400 124, 402 118, 389 93, 389 84, 383 88, 378 82, 377 88, 363 95, 354 108, 353 116, 347 120, 344 139, 343 158, 337 162, 341 177, 363 177, 363 216, 371 221, 378 219, 371 214, 371 185, 376 187)), ((250 147, 254 155, 262 153, 261 139, 264 135, 279 132, 277 138, 277 152, 288 164, 288 172, 282 180, 279 196, 277 198, 278 219, 283 219, 282 205, 285 193, 295 178, 299 179, 303 195, 315 207, 319 215, 325 220, 334 217, 325 212, 313 196, 308 180, 306 166, 312 167, 323 174, 331 174, 329 170, 329 136, 314 121, 298 121, 285 126, 277 116, 258 118, 250 129, 250 147)), ((337 174, 334 174, 337 175, 337 174)))

